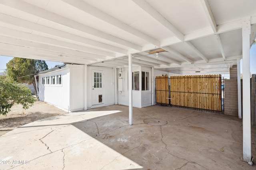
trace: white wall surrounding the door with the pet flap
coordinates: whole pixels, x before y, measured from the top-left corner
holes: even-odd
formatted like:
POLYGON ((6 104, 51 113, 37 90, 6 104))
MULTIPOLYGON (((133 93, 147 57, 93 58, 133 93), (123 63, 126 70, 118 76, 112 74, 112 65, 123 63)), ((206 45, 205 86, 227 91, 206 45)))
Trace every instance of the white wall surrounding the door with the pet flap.
POLYGON ((115 70, 114 68, 107 68, 107 67, 94 67, 94 66, 88 66, 88 72, 87 72, 87 105, 88 108, 92 107, 100 107, 100 106, 107 106, 111 104, 115 104, 115 70), (104 104, 98 104, 98 105, 92 105, 92 72, 93 70, 101 70, 103 71, 103 87, 104 92, 102 94, 102 98, 104 101, 104 104))

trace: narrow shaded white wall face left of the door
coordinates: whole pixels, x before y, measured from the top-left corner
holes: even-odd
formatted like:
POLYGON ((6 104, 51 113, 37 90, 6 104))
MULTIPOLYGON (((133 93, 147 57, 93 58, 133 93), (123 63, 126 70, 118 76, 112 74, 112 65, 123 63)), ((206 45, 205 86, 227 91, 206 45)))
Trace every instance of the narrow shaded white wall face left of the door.
POLYGON ((84 109, 84 65, 70 66, 70 111, 84 109))

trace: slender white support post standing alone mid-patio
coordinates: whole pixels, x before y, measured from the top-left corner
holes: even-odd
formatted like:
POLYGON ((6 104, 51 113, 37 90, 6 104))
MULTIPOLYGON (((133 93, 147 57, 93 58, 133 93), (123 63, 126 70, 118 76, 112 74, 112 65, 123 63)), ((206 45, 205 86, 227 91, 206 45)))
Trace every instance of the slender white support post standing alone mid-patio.
POLYGON ((132 125, 132 54, 128 55, 129 64, 129 125, 132 125))

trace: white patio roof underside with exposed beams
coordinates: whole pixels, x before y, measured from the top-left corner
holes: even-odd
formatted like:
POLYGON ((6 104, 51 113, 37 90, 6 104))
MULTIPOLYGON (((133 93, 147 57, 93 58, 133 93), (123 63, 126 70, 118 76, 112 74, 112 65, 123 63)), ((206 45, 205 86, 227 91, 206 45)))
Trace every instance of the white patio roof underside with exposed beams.
POLYGON ((242 58, 244 21, 255 39, 255 7, 255 0, 0 0, 0 55, 124 67, 131 53, 133 64, 176 74, 224 74, 242 58))

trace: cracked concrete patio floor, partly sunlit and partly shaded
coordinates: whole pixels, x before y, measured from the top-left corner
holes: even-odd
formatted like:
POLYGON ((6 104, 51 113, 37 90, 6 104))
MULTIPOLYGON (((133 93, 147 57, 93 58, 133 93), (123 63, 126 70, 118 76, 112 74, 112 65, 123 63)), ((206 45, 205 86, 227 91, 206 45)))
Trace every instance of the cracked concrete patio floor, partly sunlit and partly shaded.
MULTIPOLYGON (((0 137, 0 169, 255 170, 242 157, 242 120, 167 106, 112 105, 28 123, 0 137)), ((256 155, 252 128, 252 156, 256 155)), ((255 161, 254 161, 255 162, 255 161)))

